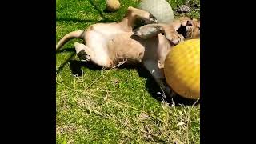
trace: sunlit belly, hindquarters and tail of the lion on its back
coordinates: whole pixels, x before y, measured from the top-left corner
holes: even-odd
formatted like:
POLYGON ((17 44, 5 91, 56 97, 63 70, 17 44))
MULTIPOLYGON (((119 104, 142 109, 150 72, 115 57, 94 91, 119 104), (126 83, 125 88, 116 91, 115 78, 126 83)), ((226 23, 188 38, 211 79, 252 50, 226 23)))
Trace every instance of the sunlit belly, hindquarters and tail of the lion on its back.
POLYGON ((122 21, 98 23, 90 26, 84 33, 77 31, 66 34, 58 42, 56 49, 59 49, 71 38, 83 38, 86 46, 77 44, 75 46, 77 53, 85 50, 88 58, 99 66, 110 68, 123 58, 141 62, 145 47, 140 42, 130 38, 136 19, 143 19, 148 23, 156 22, 150 13, 130 6, 122 21), (124 45, 125 43, 126 45, 124 45), (124 46, 127 46, 127 49, 124 46))

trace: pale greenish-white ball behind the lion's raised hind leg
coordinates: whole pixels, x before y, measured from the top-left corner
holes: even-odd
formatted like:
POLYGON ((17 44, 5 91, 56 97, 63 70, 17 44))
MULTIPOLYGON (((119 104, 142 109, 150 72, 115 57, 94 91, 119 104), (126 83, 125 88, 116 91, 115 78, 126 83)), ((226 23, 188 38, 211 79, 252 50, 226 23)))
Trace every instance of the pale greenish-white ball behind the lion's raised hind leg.
POLYGON ((159 23, 170 23, 174 20, 174 11, 166 0, 142 0, 138 9, 150 12, 159 23))

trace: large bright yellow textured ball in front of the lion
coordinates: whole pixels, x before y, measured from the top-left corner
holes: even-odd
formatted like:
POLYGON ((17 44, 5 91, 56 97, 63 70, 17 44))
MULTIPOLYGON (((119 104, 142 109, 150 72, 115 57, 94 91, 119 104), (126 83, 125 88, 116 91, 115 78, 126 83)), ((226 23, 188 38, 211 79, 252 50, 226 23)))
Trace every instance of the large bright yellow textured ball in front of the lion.
POLYGON ((174 46, 167 54, 164 72, 166 82, 177 94, 200 98, 200 39, 174 46))

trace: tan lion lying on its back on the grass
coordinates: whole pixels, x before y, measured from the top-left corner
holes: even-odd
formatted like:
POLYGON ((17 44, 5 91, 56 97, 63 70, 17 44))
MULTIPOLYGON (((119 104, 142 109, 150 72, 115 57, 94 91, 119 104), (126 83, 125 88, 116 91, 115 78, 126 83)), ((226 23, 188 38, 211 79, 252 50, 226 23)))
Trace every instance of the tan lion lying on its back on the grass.
POLYGON ((126 16, 120 22, 98 23, 90 26, 87 30, 70 32, 58 42, 56 50, 71 38, 82 38, 85 44, 74 43, 79 58, 106 68, 115 66, 124 60, 132 63, 142 62, 162 90, 166 90, 162 73, 162 62, 166 58, 166 54, 172 46, 184 40, 182 33, 185 38, 199 37, 200 23, 195 19, 179 18, 170 25, 142 26, 134 34, 133 28, 136 19, 142 19, 146 23, 157 22, 149 12, 130 6, 126 16), (150 37, 143 38, 143 31, 151 30, 154 26, 161 30, 153 30, 150 37), (178 34, 179 30, 181 34, 178 34))

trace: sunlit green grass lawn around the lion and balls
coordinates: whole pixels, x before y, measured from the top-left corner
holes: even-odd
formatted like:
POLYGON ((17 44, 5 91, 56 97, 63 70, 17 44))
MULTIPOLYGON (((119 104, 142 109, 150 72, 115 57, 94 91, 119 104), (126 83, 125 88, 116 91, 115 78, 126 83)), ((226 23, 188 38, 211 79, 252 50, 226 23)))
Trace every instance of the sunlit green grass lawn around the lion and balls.
MULTIPOLYGON (((106 13, 105 0, 57 0, 56 42, 72 30, 121 19, 138 1, 120 0, 106 13)), ((170 2, 173 9, 177 3, 170 2)), ((181 14, 175 14, 180 16, 181 14)), ((198 10, 190 14, 199 18, 198 10)), ((169 106, 142 66, 102 70, 78 62, 72 40, 56 54, 57 143, 199 143, 200 105, 169 106)))

